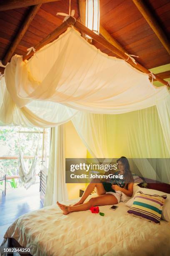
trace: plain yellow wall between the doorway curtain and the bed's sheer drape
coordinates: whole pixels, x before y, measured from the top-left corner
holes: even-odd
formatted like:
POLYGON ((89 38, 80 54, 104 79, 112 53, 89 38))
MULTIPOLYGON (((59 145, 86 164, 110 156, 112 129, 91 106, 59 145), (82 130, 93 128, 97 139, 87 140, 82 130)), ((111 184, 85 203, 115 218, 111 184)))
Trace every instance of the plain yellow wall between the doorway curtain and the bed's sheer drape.
MULTIPOLYGON (((65 158, 86 158, 87 148, 82 143, 77 131, 69 121, 64 124, 65 128, 65 158)), ((79 190, 85 187, 85 183, 67 183, 68 199, 79 197, 79 190)))

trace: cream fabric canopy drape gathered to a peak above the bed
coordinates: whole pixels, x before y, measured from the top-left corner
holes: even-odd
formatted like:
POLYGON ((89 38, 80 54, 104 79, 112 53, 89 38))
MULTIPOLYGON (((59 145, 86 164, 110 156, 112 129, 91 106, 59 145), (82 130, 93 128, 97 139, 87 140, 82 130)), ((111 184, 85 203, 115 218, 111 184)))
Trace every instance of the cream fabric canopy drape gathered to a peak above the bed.
POLYGON ((15 108, 10 115, 21 111, 28 120, 36 119, 37 125, 45 120, 45 127, 64 122, 56 103, 70 107, 62 110, 70 111, 69 116, 76 110, 120 114, 148 108, 168 96, 166 86, 154 87, 147 74, 122 59, 103 54, 74 28, 68 28, 29 61, 13 56, 5 68, 5 82, 10 94, 5 92, 5 102, 8 100, 12 110, 15 108), (57 114, 50 116, 52 109, 57 114))

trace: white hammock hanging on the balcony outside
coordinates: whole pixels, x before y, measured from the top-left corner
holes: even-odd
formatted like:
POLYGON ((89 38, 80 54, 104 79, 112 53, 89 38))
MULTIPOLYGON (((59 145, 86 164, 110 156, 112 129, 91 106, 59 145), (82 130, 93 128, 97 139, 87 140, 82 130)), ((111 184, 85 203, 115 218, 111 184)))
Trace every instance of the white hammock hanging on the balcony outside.
MULTIPOLYGON (((21 152, 21 146, 19 146, 19 155, 18 155, 18 167, 19 167, 19 176, 22 182, 24 183, 24 187, 28 189, 32 184, 36 183, 36 165, 38 159, 38 148, 39 148, 39 141, 40 141, 40 133, 38 138, 38 144, 35 151, 35 156, 32 161, 32 165, 30 170, 27 172, 24 164, 23 154, 21 152)), ((19 140, 20 143, 20 140, 19 140)))

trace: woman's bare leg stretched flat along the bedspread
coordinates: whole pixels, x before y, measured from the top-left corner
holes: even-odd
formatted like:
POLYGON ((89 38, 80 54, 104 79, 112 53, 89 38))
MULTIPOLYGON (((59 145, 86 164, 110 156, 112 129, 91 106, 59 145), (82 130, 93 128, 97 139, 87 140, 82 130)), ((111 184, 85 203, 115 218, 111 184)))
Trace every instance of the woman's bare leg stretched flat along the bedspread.
POLYGON ((117 204, 117 198, 114 195, 106 194, 100 195, 99 197, 93 197, 88 202, 82 205, 76 206, 65 206, 57 202, 57 205, 63 211, 63 214, 67 215, 69 212, 79 212, 89 210, 92 206, 99 205, 115 205, 117 204))

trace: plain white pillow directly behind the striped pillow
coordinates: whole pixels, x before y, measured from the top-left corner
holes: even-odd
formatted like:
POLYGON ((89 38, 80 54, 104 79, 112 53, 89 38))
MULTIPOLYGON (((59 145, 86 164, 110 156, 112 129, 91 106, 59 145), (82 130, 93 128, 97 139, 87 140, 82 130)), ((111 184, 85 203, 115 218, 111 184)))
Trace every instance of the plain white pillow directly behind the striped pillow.
MULTIPOLYGON (((170 221, 170 194, 161 192, 155 189, 147 189, 145 187, 138 187, 138 189, 135 189, 135 193, 138 192, 139 190, 142 191, 144 194, 149 194, 149 195, 167 195, 167 199, 165 199, 165 203, 163 205, 163 212, 161 218, 166 221, 170 221)), ((125 203, 128 207, 131 207, 133 205, 134 197, 130 198, 128 202, 125 203)))

